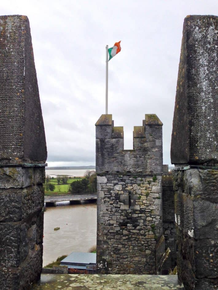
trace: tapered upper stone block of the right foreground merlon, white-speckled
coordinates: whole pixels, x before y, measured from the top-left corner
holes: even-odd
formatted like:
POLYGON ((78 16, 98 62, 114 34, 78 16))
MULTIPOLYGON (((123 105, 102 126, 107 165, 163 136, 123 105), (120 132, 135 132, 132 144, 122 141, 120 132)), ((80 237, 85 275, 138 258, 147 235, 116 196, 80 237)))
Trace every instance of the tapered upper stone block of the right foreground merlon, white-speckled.
POLYGON ((184 20, 171 140, 173 164, 217 165, 218 17, 184 20))

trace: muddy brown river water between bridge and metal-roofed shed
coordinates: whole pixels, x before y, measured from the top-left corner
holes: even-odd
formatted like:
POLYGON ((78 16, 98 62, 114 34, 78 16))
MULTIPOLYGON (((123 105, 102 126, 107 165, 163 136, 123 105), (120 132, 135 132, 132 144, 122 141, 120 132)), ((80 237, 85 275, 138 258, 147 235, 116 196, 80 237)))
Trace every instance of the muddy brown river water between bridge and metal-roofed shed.
POLYGON ((44 213, 43 266, 71 252, 88 252, 96 245, 97 206, 68 201, 47 207, 44 213), (54 228, 60 230, 54 231, 54 228))

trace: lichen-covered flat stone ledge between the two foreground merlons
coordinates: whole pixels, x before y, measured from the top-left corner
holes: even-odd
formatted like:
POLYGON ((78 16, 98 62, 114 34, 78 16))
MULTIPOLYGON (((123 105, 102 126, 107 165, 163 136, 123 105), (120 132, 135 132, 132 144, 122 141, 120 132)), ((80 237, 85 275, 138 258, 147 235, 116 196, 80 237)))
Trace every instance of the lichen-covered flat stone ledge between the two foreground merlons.
POLYGON ((83 275, 83 274, 41 274, 41 280, 33 290, 127 290, 184 289, 179 285, 177 275, 83 275))

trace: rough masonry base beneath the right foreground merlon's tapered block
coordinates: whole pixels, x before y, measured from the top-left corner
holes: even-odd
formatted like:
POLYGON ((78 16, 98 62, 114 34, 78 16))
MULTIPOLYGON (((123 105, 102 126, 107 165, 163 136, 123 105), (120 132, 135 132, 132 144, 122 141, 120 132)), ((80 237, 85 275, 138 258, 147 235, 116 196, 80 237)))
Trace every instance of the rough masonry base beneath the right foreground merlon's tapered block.
POLYGON ((185 289, 218 287, 218 170, 174 170, 177 269, 185 289))

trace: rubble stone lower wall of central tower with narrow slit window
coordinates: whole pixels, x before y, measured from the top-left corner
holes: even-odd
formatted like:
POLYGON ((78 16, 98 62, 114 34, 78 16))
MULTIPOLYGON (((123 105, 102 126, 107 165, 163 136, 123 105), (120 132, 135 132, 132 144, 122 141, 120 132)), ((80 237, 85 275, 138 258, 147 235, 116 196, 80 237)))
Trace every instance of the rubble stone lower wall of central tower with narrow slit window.
POLYGON ((155 246, 162 234, 161 183, 161 175, 98 176, 99 272, 155 273, 155 246))

